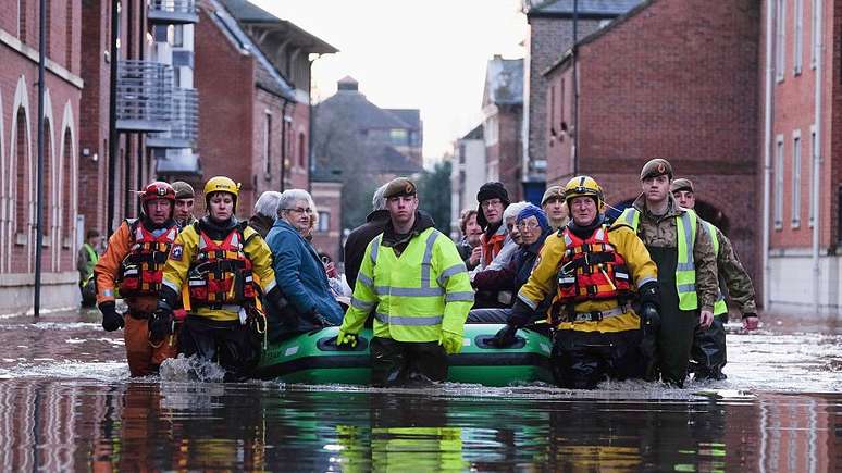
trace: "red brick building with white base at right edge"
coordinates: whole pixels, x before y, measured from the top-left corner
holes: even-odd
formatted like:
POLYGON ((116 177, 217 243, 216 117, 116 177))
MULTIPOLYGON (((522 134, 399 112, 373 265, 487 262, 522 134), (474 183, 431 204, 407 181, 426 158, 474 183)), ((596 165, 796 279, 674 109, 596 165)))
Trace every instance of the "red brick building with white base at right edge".
POLYGON ((763 1, 756 220, 775 312, 840 313, 842 3, 763 1), (764 217, 765 216, 765 217, 764 217))

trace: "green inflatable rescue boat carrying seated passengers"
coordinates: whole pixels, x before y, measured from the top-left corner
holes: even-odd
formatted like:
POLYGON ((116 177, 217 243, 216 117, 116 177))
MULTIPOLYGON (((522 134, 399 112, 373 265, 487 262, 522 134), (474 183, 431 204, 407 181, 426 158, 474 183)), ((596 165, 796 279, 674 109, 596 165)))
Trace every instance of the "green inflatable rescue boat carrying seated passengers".
MULTIPOLYGON (((491 346, 488 340, 502 327, 497 324, 466 325, 461 353, 448 357, 447 379, 485 386, 537 381, 552 383, 549 338, 521 328, 511 347, 491 346)), ((264 379, 280 378, 285 383, 369 384, 371 329, 362 331, 352 350, 336 347, 338 331, 338 327, 327 327, 270 345, 262 353, 257 375, 264 379)))

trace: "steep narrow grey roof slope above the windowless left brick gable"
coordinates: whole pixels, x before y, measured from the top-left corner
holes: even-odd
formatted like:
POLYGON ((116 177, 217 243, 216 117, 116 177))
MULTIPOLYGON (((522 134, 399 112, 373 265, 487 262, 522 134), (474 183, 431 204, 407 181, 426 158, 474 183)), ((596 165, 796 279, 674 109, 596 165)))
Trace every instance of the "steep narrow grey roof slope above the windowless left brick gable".
POLYGON ((257 60, 257 83, 271 92, 289 100, 295 100, 295 90, 292 85, 277 72, 260 48, 251 41, 251 38, 243 30, 236 18, 223 8, 220 1, 210 0, 210 4, 213 8, 213 12, 209 12, 208 16, 213 21, 213 24, 228 37, 236 48, 253 55, 257 60))

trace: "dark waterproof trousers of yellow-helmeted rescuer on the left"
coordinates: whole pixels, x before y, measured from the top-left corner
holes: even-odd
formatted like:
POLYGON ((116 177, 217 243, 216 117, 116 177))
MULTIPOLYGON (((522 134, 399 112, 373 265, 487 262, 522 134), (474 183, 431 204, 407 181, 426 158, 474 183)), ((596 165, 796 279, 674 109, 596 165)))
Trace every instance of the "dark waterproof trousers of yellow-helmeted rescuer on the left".
POLYGON ((219 363, 225 378, 245 379, 260 357, 260 340, 239 321, 214 321, 188 315, 178 333, 178 346, 186 357, 197 356, 219 363))

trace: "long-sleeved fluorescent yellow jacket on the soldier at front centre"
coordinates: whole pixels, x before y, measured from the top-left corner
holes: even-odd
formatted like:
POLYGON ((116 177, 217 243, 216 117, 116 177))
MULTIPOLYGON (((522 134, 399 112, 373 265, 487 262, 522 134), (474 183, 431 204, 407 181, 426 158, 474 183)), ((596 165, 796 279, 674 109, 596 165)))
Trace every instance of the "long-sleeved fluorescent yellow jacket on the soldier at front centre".
POLYGON ((428 228, 397 257, 382 238, 366 249, 343 328, 359 333, 373 310, 375 337, 437 341, 443 329, 461 334, 473 289, 456 245, 428 228))

